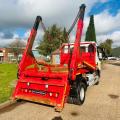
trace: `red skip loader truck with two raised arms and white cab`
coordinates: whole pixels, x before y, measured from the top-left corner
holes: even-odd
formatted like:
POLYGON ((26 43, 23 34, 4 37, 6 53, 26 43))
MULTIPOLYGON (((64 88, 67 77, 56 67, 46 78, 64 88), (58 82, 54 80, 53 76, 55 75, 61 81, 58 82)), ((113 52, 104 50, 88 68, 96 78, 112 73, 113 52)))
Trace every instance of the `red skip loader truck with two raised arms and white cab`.
POLYGON ((81 42, 84 12, 82 4, 71 27, 77 23, 75 42, 60 47, 60 64, 38 62, 32 53, 39 23, 43 26, 42 18, 37 16, 19 63, 13 99, 47 104, 56 111, 61 111, 66 102, 84 103, 87 87, 98 84, 100 77, 96 43, 81 42))

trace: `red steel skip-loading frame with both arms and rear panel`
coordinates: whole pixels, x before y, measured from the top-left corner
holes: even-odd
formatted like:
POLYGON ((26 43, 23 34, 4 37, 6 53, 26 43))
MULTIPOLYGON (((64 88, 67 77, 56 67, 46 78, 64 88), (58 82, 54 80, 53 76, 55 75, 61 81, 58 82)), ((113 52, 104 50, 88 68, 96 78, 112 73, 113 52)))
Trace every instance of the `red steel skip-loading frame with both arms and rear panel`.
MULTIPOLYGON (((37 34, 39 22, 42 21, 42 18, 40 16, 36 18, 25 52, 19 64, 18 81, 13 93, 14 99, 24 99, 52 105, 57 110, 61 110, 64 107, 70 91, 69 79, 75 80, 77 74, 87 71, 86 69, 81 69, 79 66, 82 60, 80 59, 79 46, 83 29, 84 11, 85 5, 82 5, 77 23, 73 54, 66 67, 62 63, 60 65, 37 63, 32 54, 32 46, 37 34), (43 66, 39 67, 40 65, 43 66)), ((89 61, 86 62, 87 66, 89 66, 88 63, 89 61)), ((93 64, 92 66, 93 68, 95 67, 93 64)))

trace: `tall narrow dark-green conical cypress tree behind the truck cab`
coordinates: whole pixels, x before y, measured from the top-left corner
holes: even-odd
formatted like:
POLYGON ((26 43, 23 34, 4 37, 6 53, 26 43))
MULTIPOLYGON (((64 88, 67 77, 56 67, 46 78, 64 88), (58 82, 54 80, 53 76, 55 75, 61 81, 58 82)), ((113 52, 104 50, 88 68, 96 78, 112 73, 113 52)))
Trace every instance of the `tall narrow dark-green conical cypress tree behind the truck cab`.
POLYGON ((95 41, 96 42, 96 33, 95 33, 95 26, 94 26, 94 16, 90 16, 89 26, 87 28, 85 41, 95 41))

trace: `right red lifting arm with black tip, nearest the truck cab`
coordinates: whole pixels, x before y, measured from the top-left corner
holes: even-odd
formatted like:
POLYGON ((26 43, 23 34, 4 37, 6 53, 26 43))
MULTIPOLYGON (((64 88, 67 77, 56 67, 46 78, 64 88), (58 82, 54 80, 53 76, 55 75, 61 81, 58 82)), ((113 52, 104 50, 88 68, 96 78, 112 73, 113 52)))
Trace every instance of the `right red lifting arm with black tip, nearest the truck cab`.
POLYGON ((80 40, 81 40, 81 35, 83 30, 84 12, 85 12, 85 5, 82 4, 80 6, 80 10, 78 14, 79 18, 77 23, 76 39, 75 39, 72 57, 70 61, 69 77, 71 80, 75 80, 77 67, 78 67, 78 61, 80 56, 80 40))

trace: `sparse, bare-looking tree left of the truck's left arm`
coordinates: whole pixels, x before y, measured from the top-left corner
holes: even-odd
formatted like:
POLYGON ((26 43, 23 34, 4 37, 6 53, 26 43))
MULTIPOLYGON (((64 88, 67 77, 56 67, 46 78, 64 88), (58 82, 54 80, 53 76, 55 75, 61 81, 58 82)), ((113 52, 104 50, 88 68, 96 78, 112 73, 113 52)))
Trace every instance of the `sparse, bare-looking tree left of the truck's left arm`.
POLYGON ((16 57, 16 62, 18 63, 18 56, 22 54, 22 49, 25 48, 25 42, 16 39, 15 41, 9 44, 9 47, 11 48, 11 52, 16 57))

